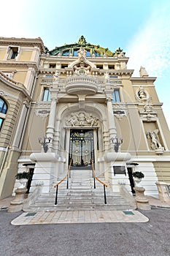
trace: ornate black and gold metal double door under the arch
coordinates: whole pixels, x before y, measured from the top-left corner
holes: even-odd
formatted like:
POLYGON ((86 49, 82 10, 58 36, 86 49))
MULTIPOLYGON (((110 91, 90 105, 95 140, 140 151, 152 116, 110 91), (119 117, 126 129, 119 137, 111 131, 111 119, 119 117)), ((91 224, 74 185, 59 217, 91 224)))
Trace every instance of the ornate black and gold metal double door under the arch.
POLYGON ((94 162, 93 129, 72 129, 70 131, 69 159, 73 166, 90 165, 94 162))

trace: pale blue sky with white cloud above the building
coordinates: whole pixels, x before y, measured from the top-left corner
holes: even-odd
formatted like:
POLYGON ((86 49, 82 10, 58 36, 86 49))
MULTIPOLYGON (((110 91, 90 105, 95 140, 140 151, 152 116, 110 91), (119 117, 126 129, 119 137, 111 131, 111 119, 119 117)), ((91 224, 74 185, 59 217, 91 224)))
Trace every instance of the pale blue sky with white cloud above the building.
POLYGON ((6 0, 1 3, 1 37, 41 37, 52 50, 64 43, 87 42, 122 48, 128 68, 141 66, 155 82, 170 127, 169 0, 6 0))

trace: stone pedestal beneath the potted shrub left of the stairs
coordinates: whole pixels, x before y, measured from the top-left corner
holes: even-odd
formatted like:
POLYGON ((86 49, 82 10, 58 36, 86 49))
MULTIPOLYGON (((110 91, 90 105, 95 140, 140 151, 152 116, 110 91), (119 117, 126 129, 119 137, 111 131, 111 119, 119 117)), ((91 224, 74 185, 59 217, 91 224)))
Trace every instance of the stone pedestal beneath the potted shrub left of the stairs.
POLYGON ((26 199, 26 187, 15 190, 15 198, 11 201, 8 212, 18 212, 23 209, 23 200, 26 199))

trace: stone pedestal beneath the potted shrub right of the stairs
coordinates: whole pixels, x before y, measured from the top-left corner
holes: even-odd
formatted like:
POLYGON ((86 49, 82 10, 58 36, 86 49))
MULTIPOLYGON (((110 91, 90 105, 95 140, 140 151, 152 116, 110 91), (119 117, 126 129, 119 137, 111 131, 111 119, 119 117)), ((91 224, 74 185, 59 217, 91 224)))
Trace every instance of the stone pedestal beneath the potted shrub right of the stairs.
POLYGON ((134 190, 136 192, 135 201, 137 208, 141 210, 150 210, 149 200, 144 196, 144 187, 134 187, 134 190))

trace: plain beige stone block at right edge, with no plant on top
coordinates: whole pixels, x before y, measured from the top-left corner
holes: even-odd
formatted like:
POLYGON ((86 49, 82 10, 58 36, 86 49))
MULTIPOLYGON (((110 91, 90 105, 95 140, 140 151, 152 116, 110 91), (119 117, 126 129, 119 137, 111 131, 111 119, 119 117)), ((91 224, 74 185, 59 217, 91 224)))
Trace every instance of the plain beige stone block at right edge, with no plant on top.
POLYGON ((166 182, 163 182, 163 181, 156 181, 155 184, 158 188, 158 195, 161 202, 170 203, 170 197, 169 197, 170 184, 167 184, 166 182))

